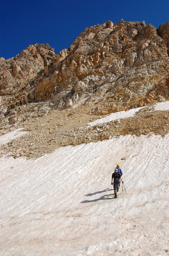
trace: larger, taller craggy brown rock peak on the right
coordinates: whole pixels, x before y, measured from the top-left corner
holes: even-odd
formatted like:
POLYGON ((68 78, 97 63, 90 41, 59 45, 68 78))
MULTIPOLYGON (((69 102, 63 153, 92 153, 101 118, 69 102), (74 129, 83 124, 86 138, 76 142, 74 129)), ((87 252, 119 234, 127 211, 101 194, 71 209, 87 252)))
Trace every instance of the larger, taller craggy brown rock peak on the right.
MULTIPOLYGON (((163 29, 167 31, 167 26, 163 29)), ((167 44, 155 27, 108 21, 86 28, 57 54, 43 79, 35 80, 33 96, 35 100, 53 97, 58 108, 104 101, 96 111, 105 114, 168 98, 168 69, 167 44)))

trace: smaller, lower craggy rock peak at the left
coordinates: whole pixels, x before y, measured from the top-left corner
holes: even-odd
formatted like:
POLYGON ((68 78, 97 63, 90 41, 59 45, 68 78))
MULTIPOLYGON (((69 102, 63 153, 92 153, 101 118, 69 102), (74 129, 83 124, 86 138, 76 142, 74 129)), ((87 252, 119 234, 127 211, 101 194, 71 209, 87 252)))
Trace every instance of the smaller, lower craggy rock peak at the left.
MULTIPOLYGON (((38 73, 53 60, 55 57, 54 49, 48 44, 29 45, 26 50, 23 50, 15 58, 5 60, 0 58, 0 95, 14 95, 18 97, 20 89, 24 90, 22 94, 22 105, 28 102, 24 100, 24 94, 29 84, 38 73), (24 86, 27 85, 27 88, 24 86)), ((15 98, 10 98, 15 101, 15 98)), ((1 98, 1 100, 3 97, 1 98)))

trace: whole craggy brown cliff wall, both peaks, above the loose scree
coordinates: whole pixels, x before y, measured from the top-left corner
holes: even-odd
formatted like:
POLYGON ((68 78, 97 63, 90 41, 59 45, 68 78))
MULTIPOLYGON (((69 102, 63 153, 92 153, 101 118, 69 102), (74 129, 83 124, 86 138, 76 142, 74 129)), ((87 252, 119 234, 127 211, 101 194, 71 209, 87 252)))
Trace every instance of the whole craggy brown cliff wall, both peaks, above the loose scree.
POLYGON ((95 103, 99 115, 165 101, 168 47, 169 22, 156 29, 124 20, 86 28, 57 55, 48 44, 30 45, 0 59, 1 113, 48 99, 59 110, 95 103))

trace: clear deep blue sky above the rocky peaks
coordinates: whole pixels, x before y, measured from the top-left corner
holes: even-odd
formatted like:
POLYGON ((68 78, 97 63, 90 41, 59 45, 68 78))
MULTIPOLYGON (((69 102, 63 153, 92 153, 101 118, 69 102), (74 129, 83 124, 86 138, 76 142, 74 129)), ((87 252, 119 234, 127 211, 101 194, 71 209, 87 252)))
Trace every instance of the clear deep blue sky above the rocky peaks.
POLYGON ((30 44, 48 43, 58 53, 86 28, 107 20, 169 21, 169 0, 2 0, 0 57, 15 57, 30 44))

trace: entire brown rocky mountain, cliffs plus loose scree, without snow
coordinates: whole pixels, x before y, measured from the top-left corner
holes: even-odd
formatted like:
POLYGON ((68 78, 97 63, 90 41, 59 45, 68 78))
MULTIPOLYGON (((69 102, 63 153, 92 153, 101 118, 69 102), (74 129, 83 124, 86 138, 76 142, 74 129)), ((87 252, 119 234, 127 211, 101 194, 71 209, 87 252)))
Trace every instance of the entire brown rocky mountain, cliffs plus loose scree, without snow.
MULTIPOLYGON (((103 132, 94 137, 85 127, 99 116, 168 100, 169 22, 156 29, 144 21, 107 21, 86 28, 58 54, 48 44, 35 44, 12 59, 0 58, 0 70, 0 134, 21 127, 37 133, 28 139, 33 144, 29 150, 13 155, 39 157, 59 146, 125 135, 132 132, 130 120, 126 131, 114 127, 106 134, 106 126, 96 127, 103 132), (45 149, 39 145, 42 138, 45 149), (36 148, 41 153, 35 154, 36 148)), ((161 114, 155 120, 162 127, 157 129, 159 134, 165 135, 167 119, 159 118, 168 114, 161 114)), ((151 121, 146 119, 140 131, 134 127, 133 134, 154 132, 151 121)), ((19 150, 20 143, 18 139, 12 151, 19 150)), ((8 146, 2 146, 2 151, 9 153, 12 146, 8 146)))

